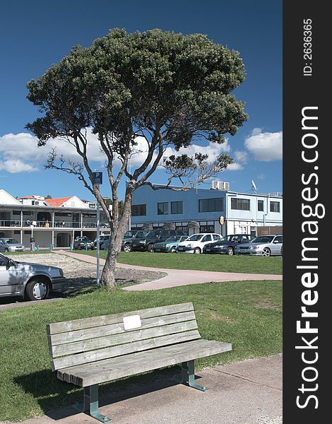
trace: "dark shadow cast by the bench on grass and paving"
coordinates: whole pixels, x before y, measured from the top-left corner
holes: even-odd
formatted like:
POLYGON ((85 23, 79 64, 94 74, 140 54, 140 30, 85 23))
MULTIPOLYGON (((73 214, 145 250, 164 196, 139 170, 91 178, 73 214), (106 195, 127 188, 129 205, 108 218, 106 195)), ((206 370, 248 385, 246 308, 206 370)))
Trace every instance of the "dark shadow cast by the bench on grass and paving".
MULTIPOLYGON (((196 379, 201 377, 196 376, 196 379)), ((60 420, 81 412, 83 389, 57 379, 51 370, 32 372, 14 379, 26 393, 37 399, 45 415, 60 420)), ((173 387, 181 383, 181 367, 175 365, 100 384, 99 406, 112 405, 119 401, 132 399, 151 391, 173 387)), ((111 417, 112 418, 112 417, 111 417)))

